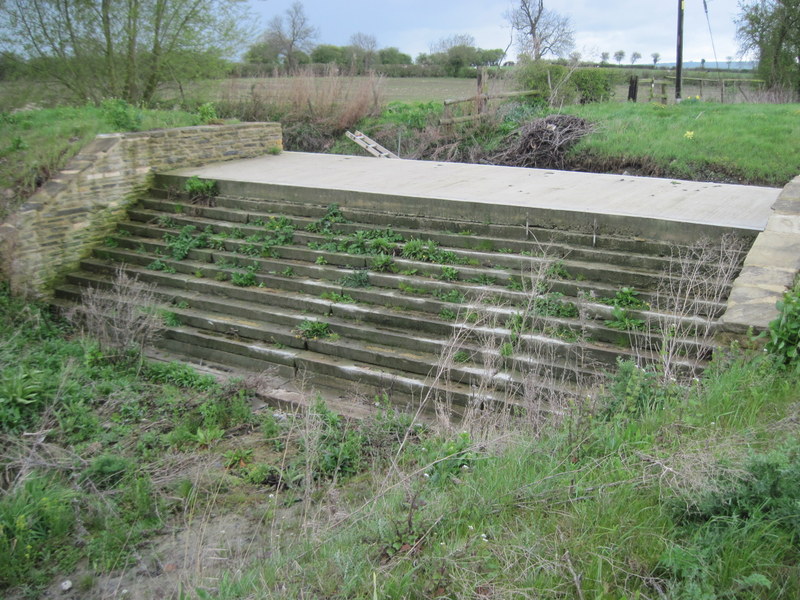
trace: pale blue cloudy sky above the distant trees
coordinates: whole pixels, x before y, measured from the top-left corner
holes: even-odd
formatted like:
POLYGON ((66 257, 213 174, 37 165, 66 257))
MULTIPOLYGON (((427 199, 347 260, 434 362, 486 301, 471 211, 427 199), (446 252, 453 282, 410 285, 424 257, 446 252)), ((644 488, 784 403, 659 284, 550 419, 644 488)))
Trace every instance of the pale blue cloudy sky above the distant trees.
MULTIPOLYGON (((714 61, 703 0, 685 0, 685 62, 714 61)), ((736 26, 738 0, 706 0, 711 33, 720 63, 728 56, 738 60, 736 26)), ((250 0, 261 30, 275 15, 283 14, 292 0, 250 0)), ((319 30, 317 43, 346 45, 356 32, 374 35, 380 48, 396 46, 416 57, 428 52, 432 42, 468 33, 481 48, 503 48, 510 28, 504 15, 512 0, 303 0, 311 24, 319 30)), ((599 60, 601 52, 626 56, 639 52, 641 62, 651 62, 658 52, 661 63, 675 62, 678 0, 550 0, 545 6, 572 20, 575 49, 586 60, 599 60)), ((508 60, 516 52, 509 51, 508 60)), ((613 59, 612 59, 613 60, 613 59)), ((624 62, 628 62, 627 58, 624 62)))

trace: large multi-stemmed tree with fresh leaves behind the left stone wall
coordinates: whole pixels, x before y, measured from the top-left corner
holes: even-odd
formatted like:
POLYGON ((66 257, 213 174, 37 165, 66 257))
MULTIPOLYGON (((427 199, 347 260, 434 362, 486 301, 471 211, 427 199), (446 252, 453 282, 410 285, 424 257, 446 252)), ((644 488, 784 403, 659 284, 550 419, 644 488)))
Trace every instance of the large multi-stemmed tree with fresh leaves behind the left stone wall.
POLYGON ((166 81, 219 68, 246 14, 238 0, 6 0, 0 49, 82 101, 147 104, 166 81))

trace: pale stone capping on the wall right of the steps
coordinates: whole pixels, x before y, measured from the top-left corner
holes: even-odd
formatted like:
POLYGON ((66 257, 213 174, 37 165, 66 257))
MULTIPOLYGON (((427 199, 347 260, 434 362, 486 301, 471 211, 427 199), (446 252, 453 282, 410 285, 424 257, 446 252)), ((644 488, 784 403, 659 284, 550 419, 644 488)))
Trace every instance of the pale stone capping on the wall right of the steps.
POLYGON ((778 316, 775 304, 800 272, 800 176, 783 188, 767 226, 756 237, 733 283, 720 333, 763 331, 778 316))

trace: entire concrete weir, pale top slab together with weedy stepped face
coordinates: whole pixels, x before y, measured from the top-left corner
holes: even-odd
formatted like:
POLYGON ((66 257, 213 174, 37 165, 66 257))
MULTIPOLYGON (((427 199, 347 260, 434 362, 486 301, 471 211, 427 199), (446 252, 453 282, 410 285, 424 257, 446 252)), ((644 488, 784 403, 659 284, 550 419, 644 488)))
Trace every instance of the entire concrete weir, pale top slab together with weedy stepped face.
POLYGON ((158 174, 54 302, 124 264, 180 323, 169 356, 334 395, 524 404, 584 393, 619 360, 693 374, 720 333, 764 327, 800 252, 777 271, 764 253, 797 243, 798 205, 791 185, 285 152, 158 174), (219 195, 182 193, 195 175, 219 195), (742 275, 686 285, 716 277, 733 238, 742 275))

